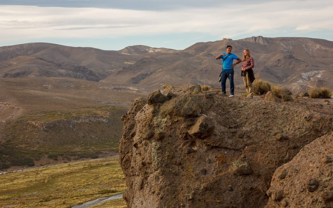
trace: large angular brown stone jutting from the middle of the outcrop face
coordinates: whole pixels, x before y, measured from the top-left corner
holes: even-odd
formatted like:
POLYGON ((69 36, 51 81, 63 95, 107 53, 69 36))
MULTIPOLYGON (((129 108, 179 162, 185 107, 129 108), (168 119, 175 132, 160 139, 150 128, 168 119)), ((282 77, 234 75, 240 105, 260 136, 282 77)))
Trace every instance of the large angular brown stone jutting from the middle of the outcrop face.
POLYGON ((206 138, 214 130, 214 124, 207 116, 201 115, 195 122, 193 126, 187 131, 189 135, 206 138))

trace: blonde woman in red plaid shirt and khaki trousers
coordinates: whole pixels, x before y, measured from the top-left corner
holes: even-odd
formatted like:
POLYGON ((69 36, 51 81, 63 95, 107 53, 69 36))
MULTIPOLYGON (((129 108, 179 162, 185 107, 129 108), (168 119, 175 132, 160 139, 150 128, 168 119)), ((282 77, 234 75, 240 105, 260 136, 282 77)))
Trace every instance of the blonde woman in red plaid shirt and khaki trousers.
POLYGON ((242 74, 243 82, 246 90, 246 98, 245 99, 253 99, 253 87, 252 82, 255 80, 253 70, 254 67, 254 59, 250 55, 250 50, 243 50, 243 63, 242 63, 242 74))

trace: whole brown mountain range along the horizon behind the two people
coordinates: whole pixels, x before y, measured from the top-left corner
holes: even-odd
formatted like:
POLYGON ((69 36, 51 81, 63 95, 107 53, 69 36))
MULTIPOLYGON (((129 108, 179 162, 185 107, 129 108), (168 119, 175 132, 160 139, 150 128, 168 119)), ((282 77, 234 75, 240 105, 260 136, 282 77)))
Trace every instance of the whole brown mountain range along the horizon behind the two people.
MULTIPOLYGON (((223 39, 196 43, 184 50, 129 46, 105 51, 50 43, 3 46, 0 76, 68 77, 146 89, 180 84, 218 87, 222 61, 215 57, 225 52, 227 45, 232 45, 232 53, 241 59, 243 49, 249 49, 259 79, 285 86, 293 93, 310 86, 333 88, 333 42, 291 37, 223 39)), ((242 87, 240 68, 235 67, 235 85, 242 87)))

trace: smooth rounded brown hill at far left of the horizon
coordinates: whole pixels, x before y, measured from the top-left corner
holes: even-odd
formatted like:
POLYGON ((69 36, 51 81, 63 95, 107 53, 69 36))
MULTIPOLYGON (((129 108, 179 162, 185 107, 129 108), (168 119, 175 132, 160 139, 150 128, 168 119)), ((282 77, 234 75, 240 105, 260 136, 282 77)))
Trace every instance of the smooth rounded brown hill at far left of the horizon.
POLYGON ((117 51, 29 43, 0 47, 1 77, 70 77, 100 81, 137 60, 117 51))

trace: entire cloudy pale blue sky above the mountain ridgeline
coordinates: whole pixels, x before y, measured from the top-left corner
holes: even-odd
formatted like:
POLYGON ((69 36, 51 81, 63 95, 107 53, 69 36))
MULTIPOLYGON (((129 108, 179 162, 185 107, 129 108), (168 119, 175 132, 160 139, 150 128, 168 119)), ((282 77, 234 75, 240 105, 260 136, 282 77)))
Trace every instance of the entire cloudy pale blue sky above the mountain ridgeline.
POLYGON ((333 41, 332 0, 0 0, 0 46, 183 50, 252 36, 333 41))

